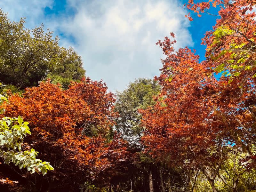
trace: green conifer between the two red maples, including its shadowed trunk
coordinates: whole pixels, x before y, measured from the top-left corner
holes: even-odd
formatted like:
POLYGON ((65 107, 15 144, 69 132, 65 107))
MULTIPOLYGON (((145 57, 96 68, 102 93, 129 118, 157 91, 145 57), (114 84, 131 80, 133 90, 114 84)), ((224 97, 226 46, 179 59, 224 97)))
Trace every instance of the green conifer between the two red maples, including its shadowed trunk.
POLYGON ((130 143, 131 151, 138 152, 140 159, 139 161, 137 158, 134 159, 136 168, 133 169, 136 171, 131 172, 132 179, 126 181, 125 186, 133 185, 141 191, 152 191, 153 182, 162 176, 156 171, 157 165, 153 164, 154 159, 148 154, 141 153, 143 146, 140 138, 143 127, 140 125, 141 114, 138 111, 154 105, 156 102, 154 96, 160 92, 160 89, 156 81, 139 78, 130 83, 123 92, 117 92, 115 110, 119 113, 119 117, 116 119, 115 130, 130 143))

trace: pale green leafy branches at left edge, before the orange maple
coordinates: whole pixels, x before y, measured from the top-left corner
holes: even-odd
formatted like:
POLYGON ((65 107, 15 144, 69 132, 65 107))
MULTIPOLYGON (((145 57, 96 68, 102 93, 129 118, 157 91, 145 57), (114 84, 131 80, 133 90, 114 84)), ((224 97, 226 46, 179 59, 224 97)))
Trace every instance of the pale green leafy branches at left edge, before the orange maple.
MULTIPOLYGON (((1 83, 0 86, 4 87, 1 83)), ((7 98, 0 94, 0 104, 6 101, 8 101, 7 98)), ((4 113, 4 110, 4 108, 1 108, 0 113, 4 113)), ((28 124, 20 116, 18 118, 3 117, 0 120, 0 157, 2 158, 0 164, 12 163, 18 166, 19 169, 26 168, 30 173, 42 172, 44 175, 48 170, 53 170, 53 167, 48 162, 42 162, 40 159, 37 159, 38 152, 35 149, 22 150, 24 138, 27 134, 31 134, 28 124)), ((2 177, 2 186, 0 187, 6 184, 7 186, 5 185, 5 187, 8 188, 18 183, 18 181, 3 178, 3 176, 8 177, 8 173, 3 175, 3 172, 0 172, 0 175, 2 177)))

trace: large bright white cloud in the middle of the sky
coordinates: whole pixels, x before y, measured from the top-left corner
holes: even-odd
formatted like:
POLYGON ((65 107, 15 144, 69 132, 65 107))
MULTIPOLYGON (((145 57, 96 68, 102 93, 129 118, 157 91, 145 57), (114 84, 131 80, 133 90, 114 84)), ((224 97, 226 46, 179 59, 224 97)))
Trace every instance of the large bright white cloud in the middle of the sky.
POLYGON ((103 78, 111 90, 124 89, 134 78, 158 75, 162 51, 155 43, 170 32, 177 35, 176 47, 193 45, 186 12, 176 1, 76 2, 73 6, 76 15, 62 31, 75 37, 87 75, 103 78))

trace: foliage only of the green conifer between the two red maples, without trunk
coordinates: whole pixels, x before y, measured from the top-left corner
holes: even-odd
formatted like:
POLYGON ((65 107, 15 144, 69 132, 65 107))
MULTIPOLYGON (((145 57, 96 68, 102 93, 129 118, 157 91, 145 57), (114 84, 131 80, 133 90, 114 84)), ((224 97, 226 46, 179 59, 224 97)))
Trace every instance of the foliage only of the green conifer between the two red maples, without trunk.
POLYGON ((153 96, 160 92, 160 85, 152 79, 139 78, 130 83, 123 92, 117 92, 115 110, 116 130, 126 140, 138 141, 143 128, 138 109, 146 109, 155 104, 153 96))

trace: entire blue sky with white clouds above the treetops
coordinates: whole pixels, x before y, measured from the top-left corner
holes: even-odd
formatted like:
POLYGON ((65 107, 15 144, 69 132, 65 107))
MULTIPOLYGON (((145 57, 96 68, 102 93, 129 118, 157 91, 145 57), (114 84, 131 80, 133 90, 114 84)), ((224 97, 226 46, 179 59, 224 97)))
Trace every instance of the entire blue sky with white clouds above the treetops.
MULTIPOLYGON (((26 17, 26 27, 44 23, 60 37, 60 45, 74 47, 83 59, 86 76, 103 79, 109 90, 122 91, 135 78, 159 75, 164 57, 155 45, 174 32, 175 48, 196 49, 217 17, 203 14, 189 22, 185 0, 1 0, 11 20, 26 17)), ((217 10, 210 10, 216 13, 217 10)))

